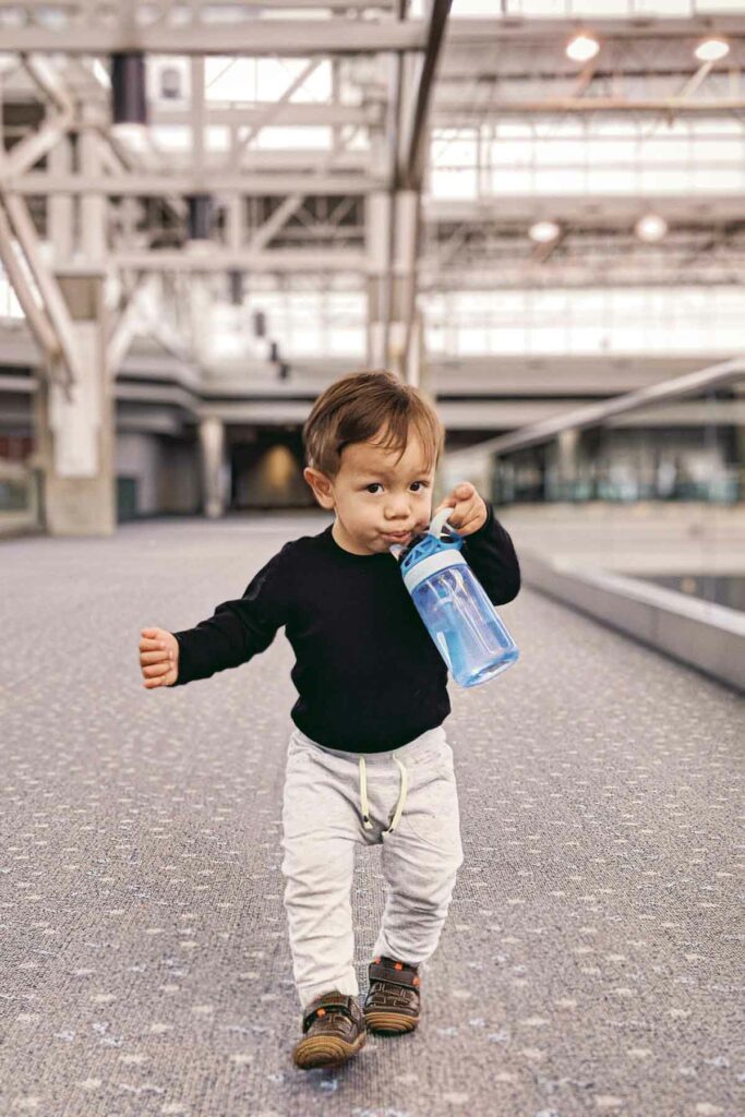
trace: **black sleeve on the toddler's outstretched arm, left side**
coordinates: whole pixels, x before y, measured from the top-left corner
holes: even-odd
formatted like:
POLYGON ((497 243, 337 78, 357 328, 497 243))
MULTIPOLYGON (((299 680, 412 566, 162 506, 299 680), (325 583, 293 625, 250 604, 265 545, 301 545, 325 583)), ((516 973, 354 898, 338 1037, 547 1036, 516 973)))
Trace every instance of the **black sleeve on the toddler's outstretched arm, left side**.
POLYGON ((288 546, 261 567, 242 598, 223 601, 209 620, 173 633, 179 641, 179 676, 173 686, 238 667, 269 647, 287 622, 288 546))

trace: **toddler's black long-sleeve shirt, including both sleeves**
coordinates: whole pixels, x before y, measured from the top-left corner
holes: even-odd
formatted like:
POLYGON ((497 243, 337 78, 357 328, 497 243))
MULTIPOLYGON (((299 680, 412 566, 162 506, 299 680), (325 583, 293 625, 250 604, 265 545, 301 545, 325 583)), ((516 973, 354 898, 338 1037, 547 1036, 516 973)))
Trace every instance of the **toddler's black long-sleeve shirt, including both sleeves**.
MULTIPOLYGON (((487 508, 486 523, 465 538, 462 554, 498 605, 517 595, 520 572, 509 535, 487 508)), ((174 633, 174 686, 245 663, 283 627, 296 657, 290 675, 298 699, 290 716, 313 741, 347 752, 388 752, 450 714, 448 668, 398 561, 390 553, 345 551, 331 525, 285 544, 242 598, 174 633)))

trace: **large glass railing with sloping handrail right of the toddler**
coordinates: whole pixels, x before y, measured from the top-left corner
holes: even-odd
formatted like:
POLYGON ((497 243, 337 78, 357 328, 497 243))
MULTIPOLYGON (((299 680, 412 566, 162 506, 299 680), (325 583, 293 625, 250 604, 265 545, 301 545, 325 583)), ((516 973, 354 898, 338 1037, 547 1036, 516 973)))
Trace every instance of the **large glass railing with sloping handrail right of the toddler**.
POLYGON ((472 481, 518 553, 741 610, 745 361, 667 385, 656 400, 651 386, 570 404, 563 417, 446 454, 439 489, 472 481))

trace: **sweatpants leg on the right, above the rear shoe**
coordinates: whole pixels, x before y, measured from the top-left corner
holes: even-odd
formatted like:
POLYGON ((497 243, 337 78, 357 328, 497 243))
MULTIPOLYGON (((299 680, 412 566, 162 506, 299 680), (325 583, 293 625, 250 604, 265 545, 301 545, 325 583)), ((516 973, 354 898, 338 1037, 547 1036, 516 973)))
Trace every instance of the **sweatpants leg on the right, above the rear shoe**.
POLYGON ((399 828, 383 836, 389 892, 373 955, 419 964, 437 948, 464 852, 450 746, 408 772, 399 828))

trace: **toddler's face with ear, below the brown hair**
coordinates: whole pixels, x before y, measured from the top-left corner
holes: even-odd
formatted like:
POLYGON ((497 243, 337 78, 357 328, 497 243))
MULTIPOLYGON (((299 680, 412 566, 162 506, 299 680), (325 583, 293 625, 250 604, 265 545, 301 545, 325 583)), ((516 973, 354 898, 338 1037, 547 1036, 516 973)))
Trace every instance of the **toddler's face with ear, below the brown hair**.
POLYGON ((333 481, 318 470, 305 470, 319 504, 336 514, 334 538, 353 554, 381 554, 393 543, 405 545, 431 518, 434 465, 426 469, 419 436, 410 430, 398 462, 398 450, 374 445, 381 438, 378 431, 370 442, 345 446, 333 481))

